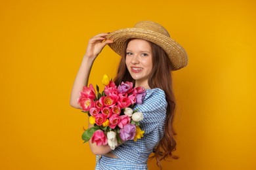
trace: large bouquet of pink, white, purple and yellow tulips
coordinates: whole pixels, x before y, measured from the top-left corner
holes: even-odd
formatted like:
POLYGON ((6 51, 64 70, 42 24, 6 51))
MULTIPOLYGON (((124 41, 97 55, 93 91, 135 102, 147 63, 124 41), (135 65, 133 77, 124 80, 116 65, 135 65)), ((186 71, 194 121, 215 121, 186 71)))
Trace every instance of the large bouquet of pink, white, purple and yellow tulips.
POLYGON ((121 82, 119 86, 104 75, 104 91, 96 91, 93 85, 84 86, 77 101, 82 111, 89 115, 93 127, 83 132, 82 139, 99 145, 108 144, 114 150, 118 143, 128 140, 137 141, 144 131, 139 127, 143 119, 142 112, 133 110, 136 104, 142 104, 146 91, 142 87, 133 88, 132 82, 121 82))

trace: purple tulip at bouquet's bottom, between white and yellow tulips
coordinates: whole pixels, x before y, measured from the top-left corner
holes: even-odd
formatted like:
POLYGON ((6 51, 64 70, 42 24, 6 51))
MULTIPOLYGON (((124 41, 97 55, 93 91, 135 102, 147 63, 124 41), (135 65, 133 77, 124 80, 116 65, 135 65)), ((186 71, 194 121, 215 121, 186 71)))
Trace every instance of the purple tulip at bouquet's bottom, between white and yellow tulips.
POLYGON ((120 138, 123 142, 133 140, 136 135, 136 126, 134 124, 126 124, 120 129, 120 138))

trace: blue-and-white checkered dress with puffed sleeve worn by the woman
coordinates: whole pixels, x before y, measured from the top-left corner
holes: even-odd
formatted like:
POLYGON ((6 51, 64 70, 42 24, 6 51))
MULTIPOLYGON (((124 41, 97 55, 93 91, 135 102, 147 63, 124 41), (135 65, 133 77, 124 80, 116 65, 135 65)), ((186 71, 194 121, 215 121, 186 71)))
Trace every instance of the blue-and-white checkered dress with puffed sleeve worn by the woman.
POLYGON ((134 108, 143 113, 144 119, 140 121, 140 128, 145 131, 144 137, 136 142, 126 141, 112 150, 117 158, 97 156, 95 169, 148 169, 148 156, 163 137, 166 107, 163 90, 160 88, 146 90, 143 104, 134 108))

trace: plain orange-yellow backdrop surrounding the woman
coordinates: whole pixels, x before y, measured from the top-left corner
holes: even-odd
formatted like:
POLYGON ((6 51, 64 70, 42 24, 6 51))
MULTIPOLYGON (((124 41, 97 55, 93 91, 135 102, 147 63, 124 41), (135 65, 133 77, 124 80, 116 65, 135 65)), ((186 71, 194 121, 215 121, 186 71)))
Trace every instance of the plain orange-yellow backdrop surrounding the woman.
MULTIPOLYGON (((94 35, 160 23, 189 56, 175 71, 179 160, 163 169, 256 169, 255 1, 1 1, 0 169, 93 169, 87 116, 69 97, 94 35)), ((90 82, 114 78, 104 48, 90 82)), ((100 86, 102 88, 102 86, 100 86)), ((155 161, 149 169, 157 169, 155 161)))

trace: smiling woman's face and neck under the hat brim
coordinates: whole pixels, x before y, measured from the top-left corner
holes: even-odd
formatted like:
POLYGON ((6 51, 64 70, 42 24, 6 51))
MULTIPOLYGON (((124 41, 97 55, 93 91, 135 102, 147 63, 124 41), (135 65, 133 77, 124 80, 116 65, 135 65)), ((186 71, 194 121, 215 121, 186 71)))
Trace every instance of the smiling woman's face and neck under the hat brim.
POLYGON ((152 71, 152 48, 150 42, 133 39, 127 45, 126 67, 135 80, 135 86, 148 86, 152 71))

